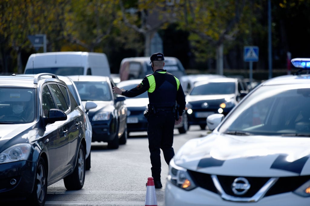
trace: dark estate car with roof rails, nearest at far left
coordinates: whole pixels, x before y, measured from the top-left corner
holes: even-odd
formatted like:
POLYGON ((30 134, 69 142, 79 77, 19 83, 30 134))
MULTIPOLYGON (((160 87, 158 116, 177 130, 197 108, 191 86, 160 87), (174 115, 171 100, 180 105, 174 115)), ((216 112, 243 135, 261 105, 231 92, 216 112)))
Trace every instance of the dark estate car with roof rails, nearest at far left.
POLYGON ((85 180, 86 122, 54 74, 0 76, 0 202, 44 205, 47 186, 85 180))

